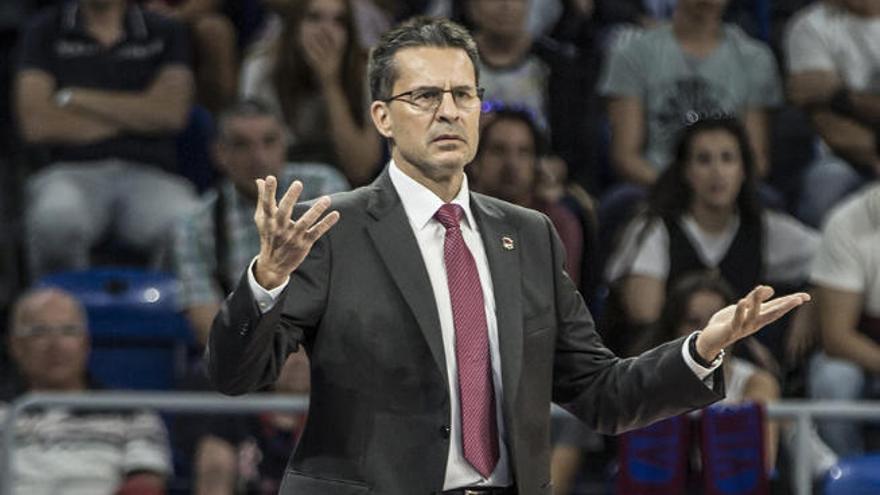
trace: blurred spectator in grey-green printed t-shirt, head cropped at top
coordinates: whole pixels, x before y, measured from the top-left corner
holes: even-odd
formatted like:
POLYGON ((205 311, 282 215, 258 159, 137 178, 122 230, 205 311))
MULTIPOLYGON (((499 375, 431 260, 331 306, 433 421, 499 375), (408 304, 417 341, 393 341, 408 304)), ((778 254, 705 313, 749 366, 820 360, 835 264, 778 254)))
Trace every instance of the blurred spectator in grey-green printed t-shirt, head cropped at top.
POLYGON ((679 0, 670 24, 622 37, 600 82, 608 97, 611 161, 620 179, 649 186, 672 161, 679 130, 700 119, 745 123, 755 173, 768 170, 768 110, 782 102, 769 48, 722 22, 728 0, 679 0))

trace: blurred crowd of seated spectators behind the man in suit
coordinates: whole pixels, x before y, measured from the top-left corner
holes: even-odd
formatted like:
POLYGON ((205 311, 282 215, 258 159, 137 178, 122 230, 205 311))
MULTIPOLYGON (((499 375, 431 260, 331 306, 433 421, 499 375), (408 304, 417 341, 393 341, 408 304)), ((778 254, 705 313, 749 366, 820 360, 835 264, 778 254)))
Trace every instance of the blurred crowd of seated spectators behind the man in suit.
MULTIPOLYGON (((367 54, 423 13, 480 50, 471 187, 552 220, 616 352, 756 284, 809 290, 729 350, 730 399, 880 397, 880 2, 21 0, 0 5, 0 401, 100 387, 77 294, 31 288, 60 271, 173 274, 198 356, 259 248, 254 180, 299 180, 307 200, 383 170, 367 54)), ((201 389, 193 360, 181 387, 201 389)), ((307 359, 285 369, 274 390, 307 393, 307 359)), ((169 440, 151 412, 37 411, 16 425, 15 486, 162 493, 184 438, 195 492, 274 493, 305 421, 196 421, 169 440)), ((817 427, 816 476, 877 447, 865 425, 817 427)), ((790 431, 767 423, 768 473, 790 431)), ((554 433, 554 493, 573 493, 613 441, 554 433)))

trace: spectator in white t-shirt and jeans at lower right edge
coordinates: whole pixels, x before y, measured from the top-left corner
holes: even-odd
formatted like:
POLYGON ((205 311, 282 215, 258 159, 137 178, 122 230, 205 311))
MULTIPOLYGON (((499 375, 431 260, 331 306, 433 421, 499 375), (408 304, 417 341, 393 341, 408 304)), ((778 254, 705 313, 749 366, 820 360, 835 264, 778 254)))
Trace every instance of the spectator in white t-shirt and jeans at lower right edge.
MULTIPOLYGON (((815 399, 880 398, 880 184, 828 215, 810 278, 816 286, 824 352, 810 363, 815 399)), ((819 431, 838 454, 865 447, 860 425, 823 421, 819 431)))

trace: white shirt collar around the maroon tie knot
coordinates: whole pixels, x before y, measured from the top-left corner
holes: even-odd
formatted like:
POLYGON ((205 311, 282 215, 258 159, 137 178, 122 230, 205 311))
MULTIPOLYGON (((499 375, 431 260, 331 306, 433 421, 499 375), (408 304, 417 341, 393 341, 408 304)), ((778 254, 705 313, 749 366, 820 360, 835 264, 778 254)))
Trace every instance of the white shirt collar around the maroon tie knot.
MULTIPOLYGON (((443 206, 443 200, 430 189, 406 175, 394 163, 394 160, 391 160, 391 163, 388 165, 388 174, 391 176, 391 184, 394 185, 397 195, 400 196, 400 202, 403 203, 403 209, 406 211, 406 216, 409 218, 410 223, 418 230, 425 228, 428 222, 434 218, 437 210, 443 206)), ((458 194, 452 199, 451 203, 462 207, 468 227, 476 230, 477 224, 474 221, 473 213, 471 213, 467 175, 462 178, 461 189, 459 189, 458 194)))

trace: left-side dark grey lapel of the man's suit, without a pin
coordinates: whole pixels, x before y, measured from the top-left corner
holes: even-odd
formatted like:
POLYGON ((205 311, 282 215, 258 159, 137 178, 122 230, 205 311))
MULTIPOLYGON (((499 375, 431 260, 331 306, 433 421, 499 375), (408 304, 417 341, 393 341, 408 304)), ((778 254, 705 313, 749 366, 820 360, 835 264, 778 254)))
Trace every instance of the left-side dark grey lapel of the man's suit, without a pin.
POLYGON ((410 228, 403 204, 391 184, 386 171, 373 183, 373 196, 367 212, 375 222, 367 232, 388 273, 403 299, 409 305, 428 343, 437 367, 446 376, 446 355, 443 352, 443 334, 431 280, 422 260, 418 242, 410 228))

